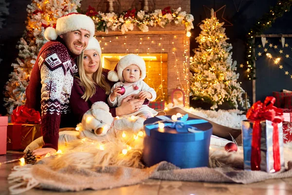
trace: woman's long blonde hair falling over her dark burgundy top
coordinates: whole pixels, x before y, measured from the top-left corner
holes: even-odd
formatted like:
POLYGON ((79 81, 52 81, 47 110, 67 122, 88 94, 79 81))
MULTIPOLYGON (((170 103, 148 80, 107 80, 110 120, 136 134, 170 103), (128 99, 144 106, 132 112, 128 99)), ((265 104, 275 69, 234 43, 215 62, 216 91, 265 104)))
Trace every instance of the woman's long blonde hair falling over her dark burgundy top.
MULTIPOLYGON (((80 54, 80 56, 77 57, 77 66, 78 66, 78 73, 79 77, 75 76, 76 78, 80 79, 80 85, 85 87, 85 92, 83 96, 81 97, 85 101, 87 101, 89 98, 91 98, 96 90, 95 86, 98 85, 100 88, 106 91, 106 95, 110 95, 110 84, 107 83, 105 76, 102 74, 102 64, 101 60, 99 61, 98 69, 95 73, 93 73, 92 78, 89 78, 85 74, 85 70, 83 67, 83 56, 84 52, 80 54)), ((98 55, 99 56, 99 55, 98 55)), ((101 57, 99 56, 101 59, 101 57)))

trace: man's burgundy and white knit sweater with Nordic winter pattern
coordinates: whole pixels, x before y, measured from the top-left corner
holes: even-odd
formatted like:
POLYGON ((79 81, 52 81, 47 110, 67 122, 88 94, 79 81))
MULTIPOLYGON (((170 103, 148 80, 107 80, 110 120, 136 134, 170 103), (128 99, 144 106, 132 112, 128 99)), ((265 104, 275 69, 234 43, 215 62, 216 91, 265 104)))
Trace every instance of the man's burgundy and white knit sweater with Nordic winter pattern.
POLYGON ((40 49, 33 67, 25 91, 26 105, 41 110, 43 148, 58 149, 61 117, 70 113, 73 74, 78 71, 74 58, 62 42, 49 41, 40 49))

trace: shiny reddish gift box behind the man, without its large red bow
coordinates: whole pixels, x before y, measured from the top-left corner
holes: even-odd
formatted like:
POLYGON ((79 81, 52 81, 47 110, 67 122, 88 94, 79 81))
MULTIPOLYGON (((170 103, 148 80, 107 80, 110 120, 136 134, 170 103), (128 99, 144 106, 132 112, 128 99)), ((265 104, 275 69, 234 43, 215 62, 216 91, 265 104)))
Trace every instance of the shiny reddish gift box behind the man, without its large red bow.
POLYGON ((41 136, 41 124, 8 123, 7 150, 24 150, 41 136))

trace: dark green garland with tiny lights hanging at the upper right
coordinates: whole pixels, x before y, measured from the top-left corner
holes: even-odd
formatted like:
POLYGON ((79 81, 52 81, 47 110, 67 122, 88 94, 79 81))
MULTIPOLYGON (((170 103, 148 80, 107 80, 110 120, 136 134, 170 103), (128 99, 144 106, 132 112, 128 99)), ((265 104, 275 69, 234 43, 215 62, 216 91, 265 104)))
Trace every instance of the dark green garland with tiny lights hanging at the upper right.
POLYGON ((254 62, 256 60, 256 54, 253 52, 255 49, 255 44, 253 40, 256 35, 262 34, 265 30, 272 26, 274 21, 283 16, 285 12, 290 11, 292 6, 292 0, 278 0, 274 7, 270 8, 269 13, 265 13, 264 16, 256 21, 256 24, 251 28, 247 35, 247 50, 246 50, 246 76, 248 79, 256 79, 255 77, 255 66, 254 62))

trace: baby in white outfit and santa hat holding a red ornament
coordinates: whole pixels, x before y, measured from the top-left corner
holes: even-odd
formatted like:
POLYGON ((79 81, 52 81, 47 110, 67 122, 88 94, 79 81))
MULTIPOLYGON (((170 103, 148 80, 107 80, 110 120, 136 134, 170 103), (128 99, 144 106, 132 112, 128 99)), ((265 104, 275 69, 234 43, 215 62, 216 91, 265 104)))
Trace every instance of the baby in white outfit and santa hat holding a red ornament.
MULTIPOLYGON (((110 81, 120 80, 111 88, 111 94, 108 98, 109 105, 111 107, 120 106, 122 100, 129 95, 135 95, 134 98, 147 98, 149 101, 153 101, 156 98, 156 92, 143 81, 145 77, 146 64, 144 59, 135 54, 129 54, 121 58, 115 71, 110 71, 108 75, 110 81)), ((142 105, 138 111, 129 116, 149 118, 157 114, 152 108, 142 105)))

